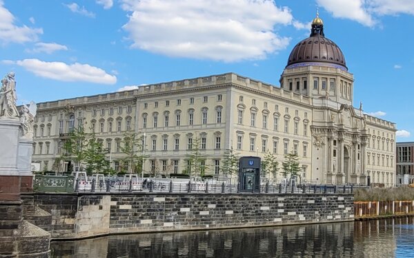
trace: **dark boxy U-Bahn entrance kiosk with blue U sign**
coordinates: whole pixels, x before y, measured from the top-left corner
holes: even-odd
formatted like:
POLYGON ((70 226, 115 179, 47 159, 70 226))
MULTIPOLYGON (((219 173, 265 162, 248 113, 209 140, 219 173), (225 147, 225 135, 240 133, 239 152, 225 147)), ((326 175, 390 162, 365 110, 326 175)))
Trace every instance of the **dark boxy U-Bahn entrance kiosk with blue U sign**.
POLYGON ((239 191, 260 193, 260 158, 242 157, 239 160, 239 191))

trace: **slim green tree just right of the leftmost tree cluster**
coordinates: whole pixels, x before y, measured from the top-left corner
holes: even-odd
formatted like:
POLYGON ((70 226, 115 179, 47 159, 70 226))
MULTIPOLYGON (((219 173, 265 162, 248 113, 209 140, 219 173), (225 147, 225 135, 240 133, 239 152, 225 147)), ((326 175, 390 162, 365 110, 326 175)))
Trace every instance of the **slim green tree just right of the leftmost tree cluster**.
POLYGON ((137 133, 126 133, 122 139, 121 151, 126 155, 126 158, 121 161, 128 164, 128 173, 141 173, 142 163, 144 162, 143 136, 138 137, 137 133))

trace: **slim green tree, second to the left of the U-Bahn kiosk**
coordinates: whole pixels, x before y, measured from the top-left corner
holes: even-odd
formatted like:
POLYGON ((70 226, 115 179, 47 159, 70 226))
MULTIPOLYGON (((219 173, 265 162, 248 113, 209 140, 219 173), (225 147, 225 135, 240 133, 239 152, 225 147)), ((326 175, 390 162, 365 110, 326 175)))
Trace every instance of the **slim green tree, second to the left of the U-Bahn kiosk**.
POLYGON ((200 139, 194 138, 191 142, 190 153, 186 154, 188 166, 184 169, 183 173, 190 175, 191 177, 204 176, 208 165, 206 164, 206 158, 203 158, 200 152, 200 139))

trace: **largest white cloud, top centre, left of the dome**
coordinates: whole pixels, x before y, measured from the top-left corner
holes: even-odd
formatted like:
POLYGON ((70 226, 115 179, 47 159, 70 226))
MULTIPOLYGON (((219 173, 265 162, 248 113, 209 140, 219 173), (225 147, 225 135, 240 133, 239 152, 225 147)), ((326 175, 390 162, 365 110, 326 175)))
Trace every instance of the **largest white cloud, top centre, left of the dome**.
POLYGON ((275 25, 290 25, 288 8, 273 0, 122 0, 131 12, 123 28, 131 47, 167 56, 240 61, 266 58, 290 39, 275 25))

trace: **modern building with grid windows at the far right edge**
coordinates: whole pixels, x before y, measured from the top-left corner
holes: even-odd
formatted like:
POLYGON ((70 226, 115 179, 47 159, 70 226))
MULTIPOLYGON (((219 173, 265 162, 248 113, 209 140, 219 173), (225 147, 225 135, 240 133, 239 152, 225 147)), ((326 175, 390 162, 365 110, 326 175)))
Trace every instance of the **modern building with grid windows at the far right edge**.
POLYGON ((397 142, 397 186, 414 183, 414 142, 397 142))

